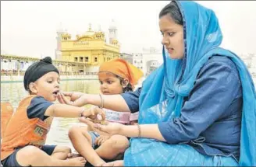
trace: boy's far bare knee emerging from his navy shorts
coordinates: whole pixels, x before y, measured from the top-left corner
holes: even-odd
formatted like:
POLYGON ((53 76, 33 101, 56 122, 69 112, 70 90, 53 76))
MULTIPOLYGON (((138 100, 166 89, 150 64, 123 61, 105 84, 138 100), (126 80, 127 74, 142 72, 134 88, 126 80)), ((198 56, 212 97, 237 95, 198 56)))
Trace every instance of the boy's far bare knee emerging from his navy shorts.
POLYGON ((51 156, 57 159, 64 160, 71 157, 71 148, 57 145, 51 156))

